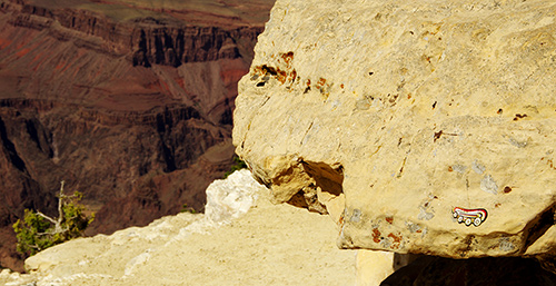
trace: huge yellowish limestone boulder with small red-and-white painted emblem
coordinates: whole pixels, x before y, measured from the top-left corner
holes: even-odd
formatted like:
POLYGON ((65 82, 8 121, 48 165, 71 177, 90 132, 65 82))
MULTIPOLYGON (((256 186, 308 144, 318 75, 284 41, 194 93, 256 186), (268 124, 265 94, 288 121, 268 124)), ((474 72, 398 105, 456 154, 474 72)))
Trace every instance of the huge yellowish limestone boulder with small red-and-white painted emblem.
POLYGON ((275 200, 330 213, 345 248, 552 256, 555 14, 278 0, 240 81, 236 151, 275 200))

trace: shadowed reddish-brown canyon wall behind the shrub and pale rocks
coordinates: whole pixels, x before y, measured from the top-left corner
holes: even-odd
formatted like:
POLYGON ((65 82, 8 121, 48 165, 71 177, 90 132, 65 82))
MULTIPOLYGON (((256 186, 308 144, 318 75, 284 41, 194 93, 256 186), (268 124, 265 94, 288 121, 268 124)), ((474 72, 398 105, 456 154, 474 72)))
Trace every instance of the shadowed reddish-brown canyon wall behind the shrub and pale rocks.
POLYGON ((146 225, 231 165, 231 111, 274 1, 0 1, 0 265, 59 181, 90 234, 146 225))

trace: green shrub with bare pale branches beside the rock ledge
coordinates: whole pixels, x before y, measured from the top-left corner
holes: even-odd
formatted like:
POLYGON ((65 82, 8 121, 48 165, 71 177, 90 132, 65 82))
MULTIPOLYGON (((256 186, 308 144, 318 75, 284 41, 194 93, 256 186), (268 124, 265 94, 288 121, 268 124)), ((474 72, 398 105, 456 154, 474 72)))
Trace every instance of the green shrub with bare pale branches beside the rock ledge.
POLYGON ((83 236, 83 230, 92 223, 95 214, 90 217, 83 214, 85 207, 78 204, 82 197, 79 191, 71 196, 63 195, 61 181, 58 218, 26 209, 23 220, 18 219, 12 226, 18 238, 17 250, 29 257, 57 244, 83 236))

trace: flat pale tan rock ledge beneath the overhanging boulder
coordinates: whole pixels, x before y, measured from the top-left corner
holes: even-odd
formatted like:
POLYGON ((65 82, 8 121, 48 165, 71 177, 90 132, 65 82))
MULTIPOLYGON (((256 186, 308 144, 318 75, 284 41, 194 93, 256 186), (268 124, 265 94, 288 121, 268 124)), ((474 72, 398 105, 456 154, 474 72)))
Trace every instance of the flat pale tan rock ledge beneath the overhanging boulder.
POLYGON ((270 204, 268 190, 246 172, 247 178, 232 175, 220 210, 212 210, 220 214, 218 221, 182 213, 147 227, 71 240, 26 260, 31 275, 6 272, 0 284, 353 285, 355 252, 336 247, 330 218, 270 204), (255 197, 256 206, 239 216, 255 197))

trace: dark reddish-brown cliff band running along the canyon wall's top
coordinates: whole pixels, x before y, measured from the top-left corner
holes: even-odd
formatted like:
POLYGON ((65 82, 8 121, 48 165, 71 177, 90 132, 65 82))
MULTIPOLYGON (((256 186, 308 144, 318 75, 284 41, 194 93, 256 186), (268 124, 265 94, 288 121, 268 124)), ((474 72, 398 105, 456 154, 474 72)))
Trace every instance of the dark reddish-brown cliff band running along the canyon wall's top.
MULTIPOLYGON (((160 13, 128 21, 115 21, 86 9, 51 8, 41 1, 3 1, 0 9, 16 13, 16 27, 43 30, 70 40, 75 32, 91 36, 81 45, 113 56, 130 56, 135 66, 165 65, 239 58, 240 50, 251 50, 260 26, 200 27, 160 13), (68 31, 69 30, 69 31, 68 31), (99 45, 99 41, 101 43, 99 45), (247 45, 247 47, 238 47, 247 45)), ((259 23, 260 24, 260 23, 259 23)))

